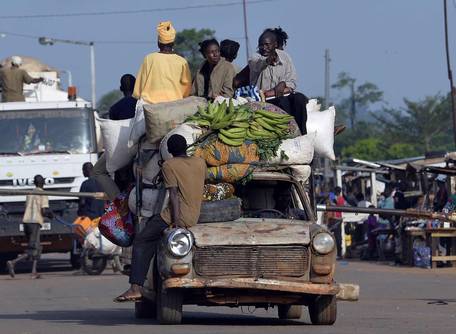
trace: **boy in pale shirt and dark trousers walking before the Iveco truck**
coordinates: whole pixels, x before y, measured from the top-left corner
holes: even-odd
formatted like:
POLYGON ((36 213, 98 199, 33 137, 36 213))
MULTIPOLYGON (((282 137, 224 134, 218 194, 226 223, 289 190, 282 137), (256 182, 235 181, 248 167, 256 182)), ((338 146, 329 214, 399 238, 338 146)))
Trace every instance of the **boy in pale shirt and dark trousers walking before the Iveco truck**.
MULTIPOLYGON (((42 191, 44 178, 41 175, 36 175, 34 182, 36 188, 33 190, 42 191)), ((48 197, 45 195, 27 195, 26 210, 22 223, 24 223, 24 233, 26 233, 28 244, 24 254, 6 263, 11 277, 14 278, 14 266, 16 263, 30 258, 33 260, 30 279, 42 278, 36 272, 36 264, 41 258, 40 228, 43 227, 44 217, 54 218, 54 213, 49 210, 48 197)))

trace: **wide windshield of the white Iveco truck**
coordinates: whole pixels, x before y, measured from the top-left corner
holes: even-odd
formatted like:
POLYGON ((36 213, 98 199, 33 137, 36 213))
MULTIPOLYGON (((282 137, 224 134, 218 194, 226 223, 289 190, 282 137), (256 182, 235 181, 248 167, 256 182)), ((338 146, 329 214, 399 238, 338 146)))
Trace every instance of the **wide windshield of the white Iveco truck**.
POLYGON ((0 155, 92 153, 88 109, 0 111, 0 155))

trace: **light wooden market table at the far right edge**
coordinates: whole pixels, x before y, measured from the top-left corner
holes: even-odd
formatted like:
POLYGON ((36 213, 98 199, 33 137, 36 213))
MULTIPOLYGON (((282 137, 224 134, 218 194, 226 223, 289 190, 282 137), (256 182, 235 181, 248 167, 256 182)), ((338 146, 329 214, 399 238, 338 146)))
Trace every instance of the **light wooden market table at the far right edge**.
POLYGON ((437 268, 437 261, 447 261, 447 267, 452 267, 452 263, 448 261, 456 261, 456 228, 425 228, 425 233, 426 246, 430 247, 432 268, 437 268), (440 237, 446 238, 446 255, 439 256, 440 237), (451 247, 448 247, 449 244, 451 247))

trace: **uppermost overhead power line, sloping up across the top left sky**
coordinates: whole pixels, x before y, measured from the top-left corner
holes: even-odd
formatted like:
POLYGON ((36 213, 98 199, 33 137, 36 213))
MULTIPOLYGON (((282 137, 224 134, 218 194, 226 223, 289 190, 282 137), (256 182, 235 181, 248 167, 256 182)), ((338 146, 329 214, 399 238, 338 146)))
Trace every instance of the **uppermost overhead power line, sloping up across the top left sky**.
MULTIPOLYGON (((255 0, 246 1, 246 4, 257 4, 261 2, 273 2, 281 0, 255 0)), ((150 13, 155 11, 166 11, 166 10, 187 10, 197 8, 209 8, 209 7, 228 7, 234 5, 242 5, 242 2, 232 2, 229 4, 218 4, 218 5, 198 5, 198 6, 187 6, 181 8, 155 8, 155 9, 143 9, 143 10, 121 10, 112 12, 98 12, 98 13, 72 13, 72 14, 43 14, 43 15, 12 15, 12 16, 0 16, 0 19, 33 19, 43 17, 68 17, 68 16, 91 16, 91 15, 113 15, 113 14, 136 14, 136 13, 150 13)))

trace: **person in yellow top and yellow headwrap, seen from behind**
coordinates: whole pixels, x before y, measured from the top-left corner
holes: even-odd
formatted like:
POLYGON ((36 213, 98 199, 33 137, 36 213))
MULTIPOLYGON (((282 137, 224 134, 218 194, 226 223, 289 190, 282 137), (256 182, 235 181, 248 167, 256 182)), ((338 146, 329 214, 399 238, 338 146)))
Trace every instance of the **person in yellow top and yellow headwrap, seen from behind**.
POLYGON ((149 103, 180 100, 190 93, 190 69, 184 58, 173 53, 176 30, 171 22, 160 22, 157 30, 160 52, 145 56, 136 77, 133 97, 144 98, 149 103))

